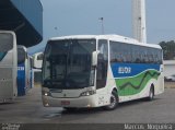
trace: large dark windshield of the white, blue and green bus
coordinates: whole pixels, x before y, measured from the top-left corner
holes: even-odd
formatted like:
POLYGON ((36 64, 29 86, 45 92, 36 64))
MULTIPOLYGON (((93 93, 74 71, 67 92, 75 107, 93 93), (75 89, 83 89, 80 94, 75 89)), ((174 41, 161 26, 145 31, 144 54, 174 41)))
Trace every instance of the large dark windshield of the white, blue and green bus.
POLYGON ((48 42, 43 66, 44 87, 69 90, 94 85, 91 58, 95 50, 95 39, 48 42))

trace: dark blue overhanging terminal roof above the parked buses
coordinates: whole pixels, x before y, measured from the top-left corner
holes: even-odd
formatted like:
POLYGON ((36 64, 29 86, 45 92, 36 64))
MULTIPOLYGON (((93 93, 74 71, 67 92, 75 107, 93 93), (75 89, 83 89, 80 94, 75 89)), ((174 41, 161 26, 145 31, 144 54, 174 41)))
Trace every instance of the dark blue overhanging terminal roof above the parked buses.
POLYGON ((18 45, 31 47, 43 40, 39 0, 0 0, 0 29, 13 31, 18 45))

